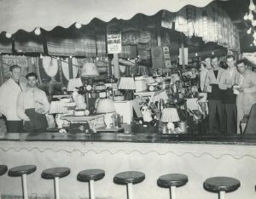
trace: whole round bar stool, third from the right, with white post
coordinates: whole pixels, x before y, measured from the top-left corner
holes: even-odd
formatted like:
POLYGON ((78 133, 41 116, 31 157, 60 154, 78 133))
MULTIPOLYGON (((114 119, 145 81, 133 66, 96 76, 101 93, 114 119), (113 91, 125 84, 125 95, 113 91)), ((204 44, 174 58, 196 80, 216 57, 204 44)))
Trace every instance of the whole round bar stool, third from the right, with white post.
POLYGON ((133 199, 132 196, 132 184, 137 184, 142 182, 145 179, 145 173, 137 171, 127 171, 122 173, 117 173, 113 182, 119 185, 127 185, 127 198, 133 199))

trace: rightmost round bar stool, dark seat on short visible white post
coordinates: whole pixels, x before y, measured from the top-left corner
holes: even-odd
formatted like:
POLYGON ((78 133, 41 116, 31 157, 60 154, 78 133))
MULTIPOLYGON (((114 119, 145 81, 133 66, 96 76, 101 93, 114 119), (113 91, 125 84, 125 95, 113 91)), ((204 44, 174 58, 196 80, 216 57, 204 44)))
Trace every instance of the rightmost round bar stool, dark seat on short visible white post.
POLYGON ((237 190, 240 187, 240 181, 230 177, 213 177, 206 179, 204 188, 212 192, 218 192, 219 199, 225 198, 225 192, 237 190))

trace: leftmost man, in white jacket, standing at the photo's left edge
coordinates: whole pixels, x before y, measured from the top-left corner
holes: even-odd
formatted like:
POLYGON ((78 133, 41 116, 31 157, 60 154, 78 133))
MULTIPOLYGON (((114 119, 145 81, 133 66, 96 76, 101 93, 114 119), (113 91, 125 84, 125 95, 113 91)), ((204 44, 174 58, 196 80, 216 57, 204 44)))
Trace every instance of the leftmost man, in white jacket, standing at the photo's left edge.
POLYGON ((9 67, 10 78, 0 88, 0 113, 7 119, 7 132, 20 133, 23 131, 23 122, 17 116, 17 98, 26 83, 20 81, 21 68, 19 65, 9 67))

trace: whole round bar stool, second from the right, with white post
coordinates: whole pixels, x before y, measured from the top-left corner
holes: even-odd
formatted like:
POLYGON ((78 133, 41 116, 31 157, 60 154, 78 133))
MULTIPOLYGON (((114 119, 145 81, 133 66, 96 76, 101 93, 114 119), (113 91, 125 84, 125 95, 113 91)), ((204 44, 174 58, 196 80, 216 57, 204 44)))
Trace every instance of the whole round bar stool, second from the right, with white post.
POLYGON ((180 173, 170 173, 161 175, 157 179, 157 185, 164 188, 170 188, 171 199, 176 199, 176 187, 186 185, 188 176, 180 173))

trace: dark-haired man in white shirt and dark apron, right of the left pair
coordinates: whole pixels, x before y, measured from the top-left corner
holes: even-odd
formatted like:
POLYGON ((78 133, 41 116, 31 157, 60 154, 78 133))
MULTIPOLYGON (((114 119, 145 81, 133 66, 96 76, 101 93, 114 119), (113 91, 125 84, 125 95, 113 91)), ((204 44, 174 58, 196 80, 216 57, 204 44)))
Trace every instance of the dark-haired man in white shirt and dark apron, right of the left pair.
POLYGON ((45 132, 48 122, 45 113, 49 102, 43 90, 37 87, 38 76, 31 72, 26 75, 27 88, 18 97, 17 115, 24 121, 24 130, 30 133, 45 132))

